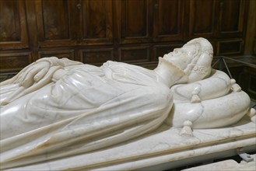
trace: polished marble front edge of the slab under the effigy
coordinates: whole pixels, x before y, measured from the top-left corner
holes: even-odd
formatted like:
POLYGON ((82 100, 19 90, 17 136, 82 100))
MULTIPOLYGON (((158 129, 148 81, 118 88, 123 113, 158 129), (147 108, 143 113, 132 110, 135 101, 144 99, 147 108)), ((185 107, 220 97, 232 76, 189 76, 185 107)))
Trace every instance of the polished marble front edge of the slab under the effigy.
MULTIPOLYGON (((223 152, 230 149, 236 149, 241 147, 247 147, 255 145, 256 138, 247 138, 239 141, 227 142, 219 145, 205 146, 202 148, 192 148, 181 152, 167 153, 162 155, 155 155, 150 158, 144 159, 130 159, 130 161, 123 162, 121 164, 115 164, 114 162, 107 162, 105 166, 101 167, 83 167, 80 169, 96 169, 96 170, 133 170, 142 169, 149 166, 156 166, 167 162, 175 162, 182 159, 191 159, 197 156, 209 155, 216 152, 223 152)), ((256 152, 256 146, 254 148, 256 152)), ((140 158, 141 156, 139 156, 140 158)))

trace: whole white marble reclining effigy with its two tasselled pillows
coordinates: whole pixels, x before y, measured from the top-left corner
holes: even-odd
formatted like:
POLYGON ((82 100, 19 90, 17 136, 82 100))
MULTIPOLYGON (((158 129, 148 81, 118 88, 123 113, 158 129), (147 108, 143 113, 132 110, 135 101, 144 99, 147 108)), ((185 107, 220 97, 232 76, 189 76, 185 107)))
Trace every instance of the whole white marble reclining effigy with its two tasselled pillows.
POLYGON ((1 162, 90 152, 163 122, 181 127, 181 136, 236 123, 246 113, 255 122, 249 96, 211 63, 212 45, 204 38, 165 54, 154 70, 41 58, 1 82, 1 162))

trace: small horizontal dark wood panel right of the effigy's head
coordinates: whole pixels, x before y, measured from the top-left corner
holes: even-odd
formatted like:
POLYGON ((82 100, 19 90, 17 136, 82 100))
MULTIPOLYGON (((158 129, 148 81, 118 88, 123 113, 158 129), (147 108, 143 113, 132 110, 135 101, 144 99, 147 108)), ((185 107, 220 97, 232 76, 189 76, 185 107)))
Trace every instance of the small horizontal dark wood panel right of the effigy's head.
POLYGON ((218 42, 218 55, 242 54, 243 40, 223 40, 218 42))

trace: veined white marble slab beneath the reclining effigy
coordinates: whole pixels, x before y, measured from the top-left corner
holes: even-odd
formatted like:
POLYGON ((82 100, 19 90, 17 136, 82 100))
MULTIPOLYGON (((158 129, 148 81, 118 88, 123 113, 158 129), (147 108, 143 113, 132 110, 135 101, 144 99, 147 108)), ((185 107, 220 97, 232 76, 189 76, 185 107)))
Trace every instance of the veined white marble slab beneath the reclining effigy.
MULTIPOLYGON (((163 125, 152 134, 127 141, 112 148, 70 156, 37 165, 11 170, 132 170, 155 166, 165 162, 189 159, 229 149, 255 145, 256 125, 249 117, 230 127, 196 129, 194 137, 179 135, 179 128, 163 125)), ((256 148, 255 148, 256 151, 256 148)), ((44 155, 47 159, 47 155, 44 155)), ((31 158, 33 159, 33 157, 31 158)), ((12 163, 13 164, 13 163, 12 163)))

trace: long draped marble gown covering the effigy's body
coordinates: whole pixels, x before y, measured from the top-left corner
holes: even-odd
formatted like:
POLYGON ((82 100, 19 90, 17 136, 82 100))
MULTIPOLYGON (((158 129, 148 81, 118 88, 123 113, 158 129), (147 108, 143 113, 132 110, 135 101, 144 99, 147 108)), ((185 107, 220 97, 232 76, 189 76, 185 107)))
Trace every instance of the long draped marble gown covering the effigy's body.
MULTIPOLYGON (((153 131, 170 113, 170 88, 152 70, 114 61, 66 69, 57 82, 2 106, 6 166, 106 148, 153 131)), ((1 96, 12 87, 2 86, 1 96)))

